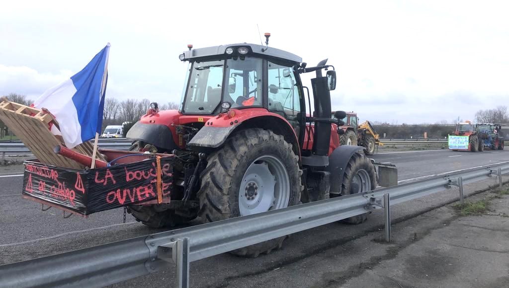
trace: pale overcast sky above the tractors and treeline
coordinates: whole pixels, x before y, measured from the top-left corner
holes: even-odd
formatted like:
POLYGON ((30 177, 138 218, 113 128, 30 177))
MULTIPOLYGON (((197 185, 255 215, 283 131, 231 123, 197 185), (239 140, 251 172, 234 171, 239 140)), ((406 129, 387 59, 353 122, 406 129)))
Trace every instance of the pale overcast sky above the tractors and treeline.
POLYGON ((186 45, 259 44, 258 23, 308 66, 328 58, 333 109, 361 121, 473 120, 509 105, 506 1, 72 3, 2 4, 0 95, 35 99, 110 42, 106 97, 179 102, 186 45))

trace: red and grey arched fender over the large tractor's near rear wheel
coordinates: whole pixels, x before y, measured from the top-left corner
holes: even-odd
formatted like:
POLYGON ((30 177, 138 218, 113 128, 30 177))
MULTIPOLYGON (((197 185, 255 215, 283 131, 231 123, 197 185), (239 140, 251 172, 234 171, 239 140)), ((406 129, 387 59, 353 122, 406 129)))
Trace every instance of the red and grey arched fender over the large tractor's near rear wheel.
POLYGON ((292 125, 282 116, 269 112, 265 108, 231 109, 221 113, 205 123, 205 126, 187 143, 190 149, 200 151, 203 148, 218 148, 234 131, 245 128, 270 129, 285 137, 292 144, 295 155, 300 159, 300 148, 297 135, 292 125), (232 116, 230 117, 229 116, 232 116), (276 124, 276 122, 278 122, 276 124), (282 125, 281 125, 282 124, 282 125))

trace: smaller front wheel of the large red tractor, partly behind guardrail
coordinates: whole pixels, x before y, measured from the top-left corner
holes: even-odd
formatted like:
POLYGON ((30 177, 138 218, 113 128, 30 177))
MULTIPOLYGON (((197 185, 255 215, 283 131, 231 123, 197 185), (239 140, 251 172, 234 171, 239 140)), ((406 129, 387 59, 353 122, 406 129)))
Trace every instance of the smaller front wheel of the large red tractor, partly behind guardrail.
MULTIPOLYGON (((348 161, 341 185, 341 195, 364 193, 377 187, 375 166, 370 159, 360 153, 354 153, 348 161)), ((367 214, 353 216, 342 220, 349 224, 360 224, 367 220, 367 214)))

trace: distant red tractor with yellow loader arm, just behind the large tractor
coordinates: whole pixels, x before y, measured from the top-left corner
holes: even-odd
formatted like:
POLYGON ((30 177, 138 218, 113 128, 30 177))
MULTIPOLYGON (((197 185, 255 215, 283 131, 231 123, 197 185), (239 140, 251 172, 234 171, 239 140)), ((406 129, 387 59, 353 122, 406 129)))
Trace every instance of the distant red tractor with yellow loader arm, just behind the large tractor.
MULTIPOLYGON (((334 118, 334 112, 332 111, 332 118, 334 118)), ((341 129, 345 131, 345 134, 340 136, 341 145, 362 146, 365 148, 366 155, 373 155, 375 148, 382 146, 383 143, 380 142, 380 136, 369 121, 357 125, 358 120, 357 113, 354 112, 347 112, 347 116, 342 119, 345 125, 341 126, 341 129)))

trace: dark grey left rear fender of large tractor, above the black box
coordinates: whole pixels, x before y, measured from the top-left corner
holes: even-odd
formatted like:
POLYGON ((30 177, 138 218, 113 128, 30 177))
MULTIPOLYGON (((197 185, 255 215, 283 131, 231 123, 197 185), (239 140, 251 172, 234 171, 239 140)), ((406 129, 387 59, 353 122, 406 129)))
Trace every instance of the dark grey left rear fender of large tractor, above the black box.
POLYGON ((151 143, 155 147, 166 151, 178 148, 173 140, 172 131, 163 124, 149 124, 138 121, 127 131, 126 137, 131 140, 151 143))

